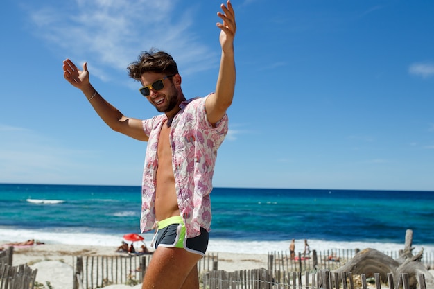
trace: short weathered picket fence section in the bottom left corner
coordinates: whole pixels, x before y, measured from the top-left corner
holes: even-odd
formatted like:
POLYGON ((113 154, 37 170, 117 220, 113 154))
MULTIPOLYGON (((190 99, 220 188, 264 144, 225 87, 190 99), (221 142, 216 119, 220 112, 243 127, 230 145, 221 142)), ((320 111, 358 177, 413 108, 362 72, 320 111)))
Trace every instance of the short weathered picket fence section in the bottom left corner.
POLYGON ((14 267, 0 264, 0 289, 33 289, 36 273, 26 264, 14 267))

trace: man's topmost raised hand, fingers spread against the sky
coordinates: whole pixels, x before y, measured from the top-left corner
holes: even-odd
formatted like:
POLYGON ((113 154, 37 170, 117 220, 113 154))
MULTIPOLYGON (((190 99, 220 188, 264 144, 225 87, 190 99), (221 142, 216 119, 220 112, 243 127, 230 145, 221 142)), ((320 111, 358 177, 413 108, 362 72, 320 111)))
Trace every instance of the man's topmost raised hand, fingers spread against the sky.
POLYGON ((229 0, 227 1, 227 6, 225 6, 225 4, 221 4, 220 7, 224 12, 217 12, 218 17, 223 20, 223 24, 217 23, 218 28, 221 29, 220 45, 222 46, 223 51, 227 51, 227 49, 233 50, 236 32, 234 8, 232 7, 232 3, 229 0))

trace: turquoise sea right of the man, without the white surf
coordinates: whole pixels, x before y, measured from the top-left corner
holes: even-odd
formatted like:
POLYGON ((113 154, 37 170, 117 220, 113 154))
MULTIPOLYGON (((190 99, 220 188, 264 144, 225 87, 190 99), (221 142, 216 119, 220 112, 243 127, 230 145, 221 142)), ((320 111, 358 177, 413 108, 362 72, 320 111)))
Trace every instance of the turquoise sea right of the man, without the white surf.
POLYGON ((434 243, 433 192, 216 189, 212 200, 221 236, 401 242, 413 229, 434 243))

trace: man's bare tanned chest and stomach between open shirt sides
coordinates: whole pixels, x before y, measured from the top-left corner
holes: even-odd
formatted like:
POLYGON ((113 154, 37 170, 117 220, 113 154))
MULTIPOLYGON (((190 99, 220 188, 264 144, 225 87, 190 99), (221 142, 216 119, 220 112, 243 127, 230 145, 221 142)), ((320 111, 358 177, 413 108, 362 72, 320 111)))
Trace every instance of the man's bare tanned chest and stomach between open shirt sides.
POLYGON ((167 123, 162 125, 159 134, 157 156, 157 186, 155 194, 155 216, 157 220, 164 220, 172 216, 180 216, 177 206, 177 195, 175 191, 175 177, 172 169, 172 150, 169 141, 171 128, 167 123))

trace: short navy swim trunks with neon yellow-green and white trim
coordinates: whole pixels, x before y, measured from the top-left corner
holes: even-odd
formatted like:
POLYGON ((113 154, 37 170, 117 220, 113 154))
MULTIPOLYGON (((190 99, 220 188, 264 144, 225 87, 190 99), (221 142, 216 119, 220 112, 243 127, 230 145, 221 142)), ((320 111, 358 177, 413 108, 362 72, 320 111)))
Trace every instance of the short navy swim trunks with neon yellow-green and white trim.
POLYGON ((186 228, 181 216, 174 216, 157 222, 155 233, 155 249, 158 246, 167 248, 183 248, 187 252, 204 256, 208 247, 208 231, 200 227, 200 235, 185 238, 186 228))

